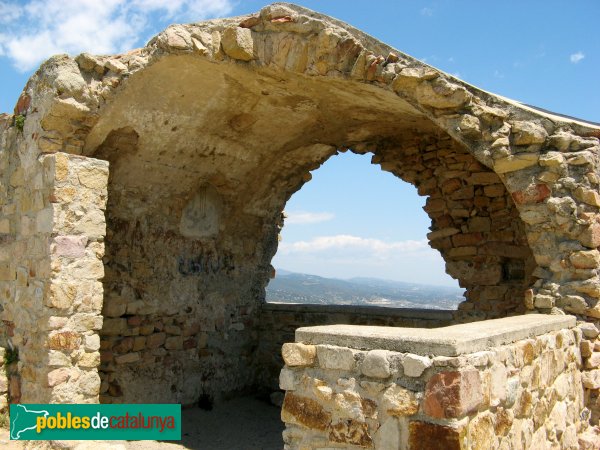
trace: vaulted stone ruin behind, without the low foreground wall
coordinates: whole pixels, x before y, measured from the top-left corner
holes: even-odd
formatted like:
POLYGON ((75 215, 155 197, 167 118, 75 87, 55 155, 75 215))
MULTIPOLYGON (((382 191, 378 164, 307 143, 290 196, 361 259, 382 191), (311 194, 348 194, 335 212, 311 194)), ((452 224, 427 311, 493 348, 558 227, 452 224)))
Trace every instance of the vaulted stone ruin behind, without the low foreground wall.
POLYGON ((338 151, 427 197, 430 244, 466 290, 453 321, 600 319, 600 126, 298 6, 54 56, 0 129, 1 330, 25 403, 261 385, 282 211, 338 151))

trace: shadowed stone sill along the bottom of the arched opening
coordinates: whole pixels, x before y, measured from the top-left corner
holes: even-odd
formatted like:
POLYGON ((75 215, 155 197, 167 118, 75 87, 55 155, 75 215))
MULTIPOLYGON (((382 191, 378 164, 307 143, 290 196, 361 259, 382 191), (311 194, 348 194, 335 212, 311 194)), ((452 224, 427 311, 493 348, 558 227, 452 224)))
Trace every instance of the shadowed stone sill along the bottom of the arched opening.
POLYGON ((424 309, 424 308, 388 308, 385 306, 362 306, 362 305, 319 305, 307 303, 283 303, 283 302, 265 302, 262 305, 263 311, 277 312, 304 312, 316 314, 361 314, 368 316, 402 317, 406 319, 448 321, 453 320, 453 313, 456 311, 446 309, 424 309))

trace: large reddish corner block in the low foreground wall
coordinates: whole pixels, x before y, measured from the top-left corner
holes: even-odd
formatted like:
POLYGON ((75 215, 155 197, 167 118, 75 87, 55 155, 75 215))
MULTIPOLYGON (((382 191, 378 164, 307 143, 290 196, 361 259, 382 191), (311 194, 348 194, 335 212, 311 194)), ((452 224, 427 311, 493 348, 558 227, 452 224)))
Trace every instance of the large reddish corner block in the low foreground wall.
POLYGON ((475 411, 482 401, 479 371, 440 372, 427 382, 423 408, 434 418, 458 418, 475 411))

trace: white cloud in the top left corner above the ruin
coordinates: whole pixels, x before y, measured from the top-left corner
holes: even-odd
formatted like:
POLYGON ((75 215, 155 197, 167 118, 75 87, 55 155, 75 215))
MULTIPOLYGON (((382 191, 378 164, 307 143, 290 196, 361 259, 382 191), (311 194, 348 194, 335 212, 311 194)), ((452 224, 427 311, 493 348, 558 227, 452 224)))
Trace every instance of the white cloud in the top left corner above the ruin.
MULTIPOLYGON (((57 53, 117 53, 173 22, 225 15, 231 0, 31 0, 0 2, 0 55, 25 72, 57 53), (4 14, 3 14, 4 13, 4 14), (10 18, 10 20, 8 19, 10 18), (153 29, 153 20, 163 21, 153 29)), ((154 25, 156 26, 156 25, 154 25)))

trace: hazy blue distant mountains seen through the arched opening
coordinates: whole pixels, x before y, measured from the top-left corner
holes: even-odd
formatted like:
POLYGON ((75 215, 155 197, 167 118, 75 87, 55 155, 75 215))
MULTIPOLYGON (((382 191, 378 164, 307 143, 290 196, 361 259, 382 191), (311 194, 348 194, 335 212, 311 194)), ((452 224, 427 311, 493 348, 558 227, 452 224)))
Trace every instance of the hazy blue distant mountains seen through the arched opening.
POLYGON ((458 287, 362 277, 341 280, 278 269, 277 276, 267 286, 267 301, 456 309, 464 300, 463 292, 458 287))

